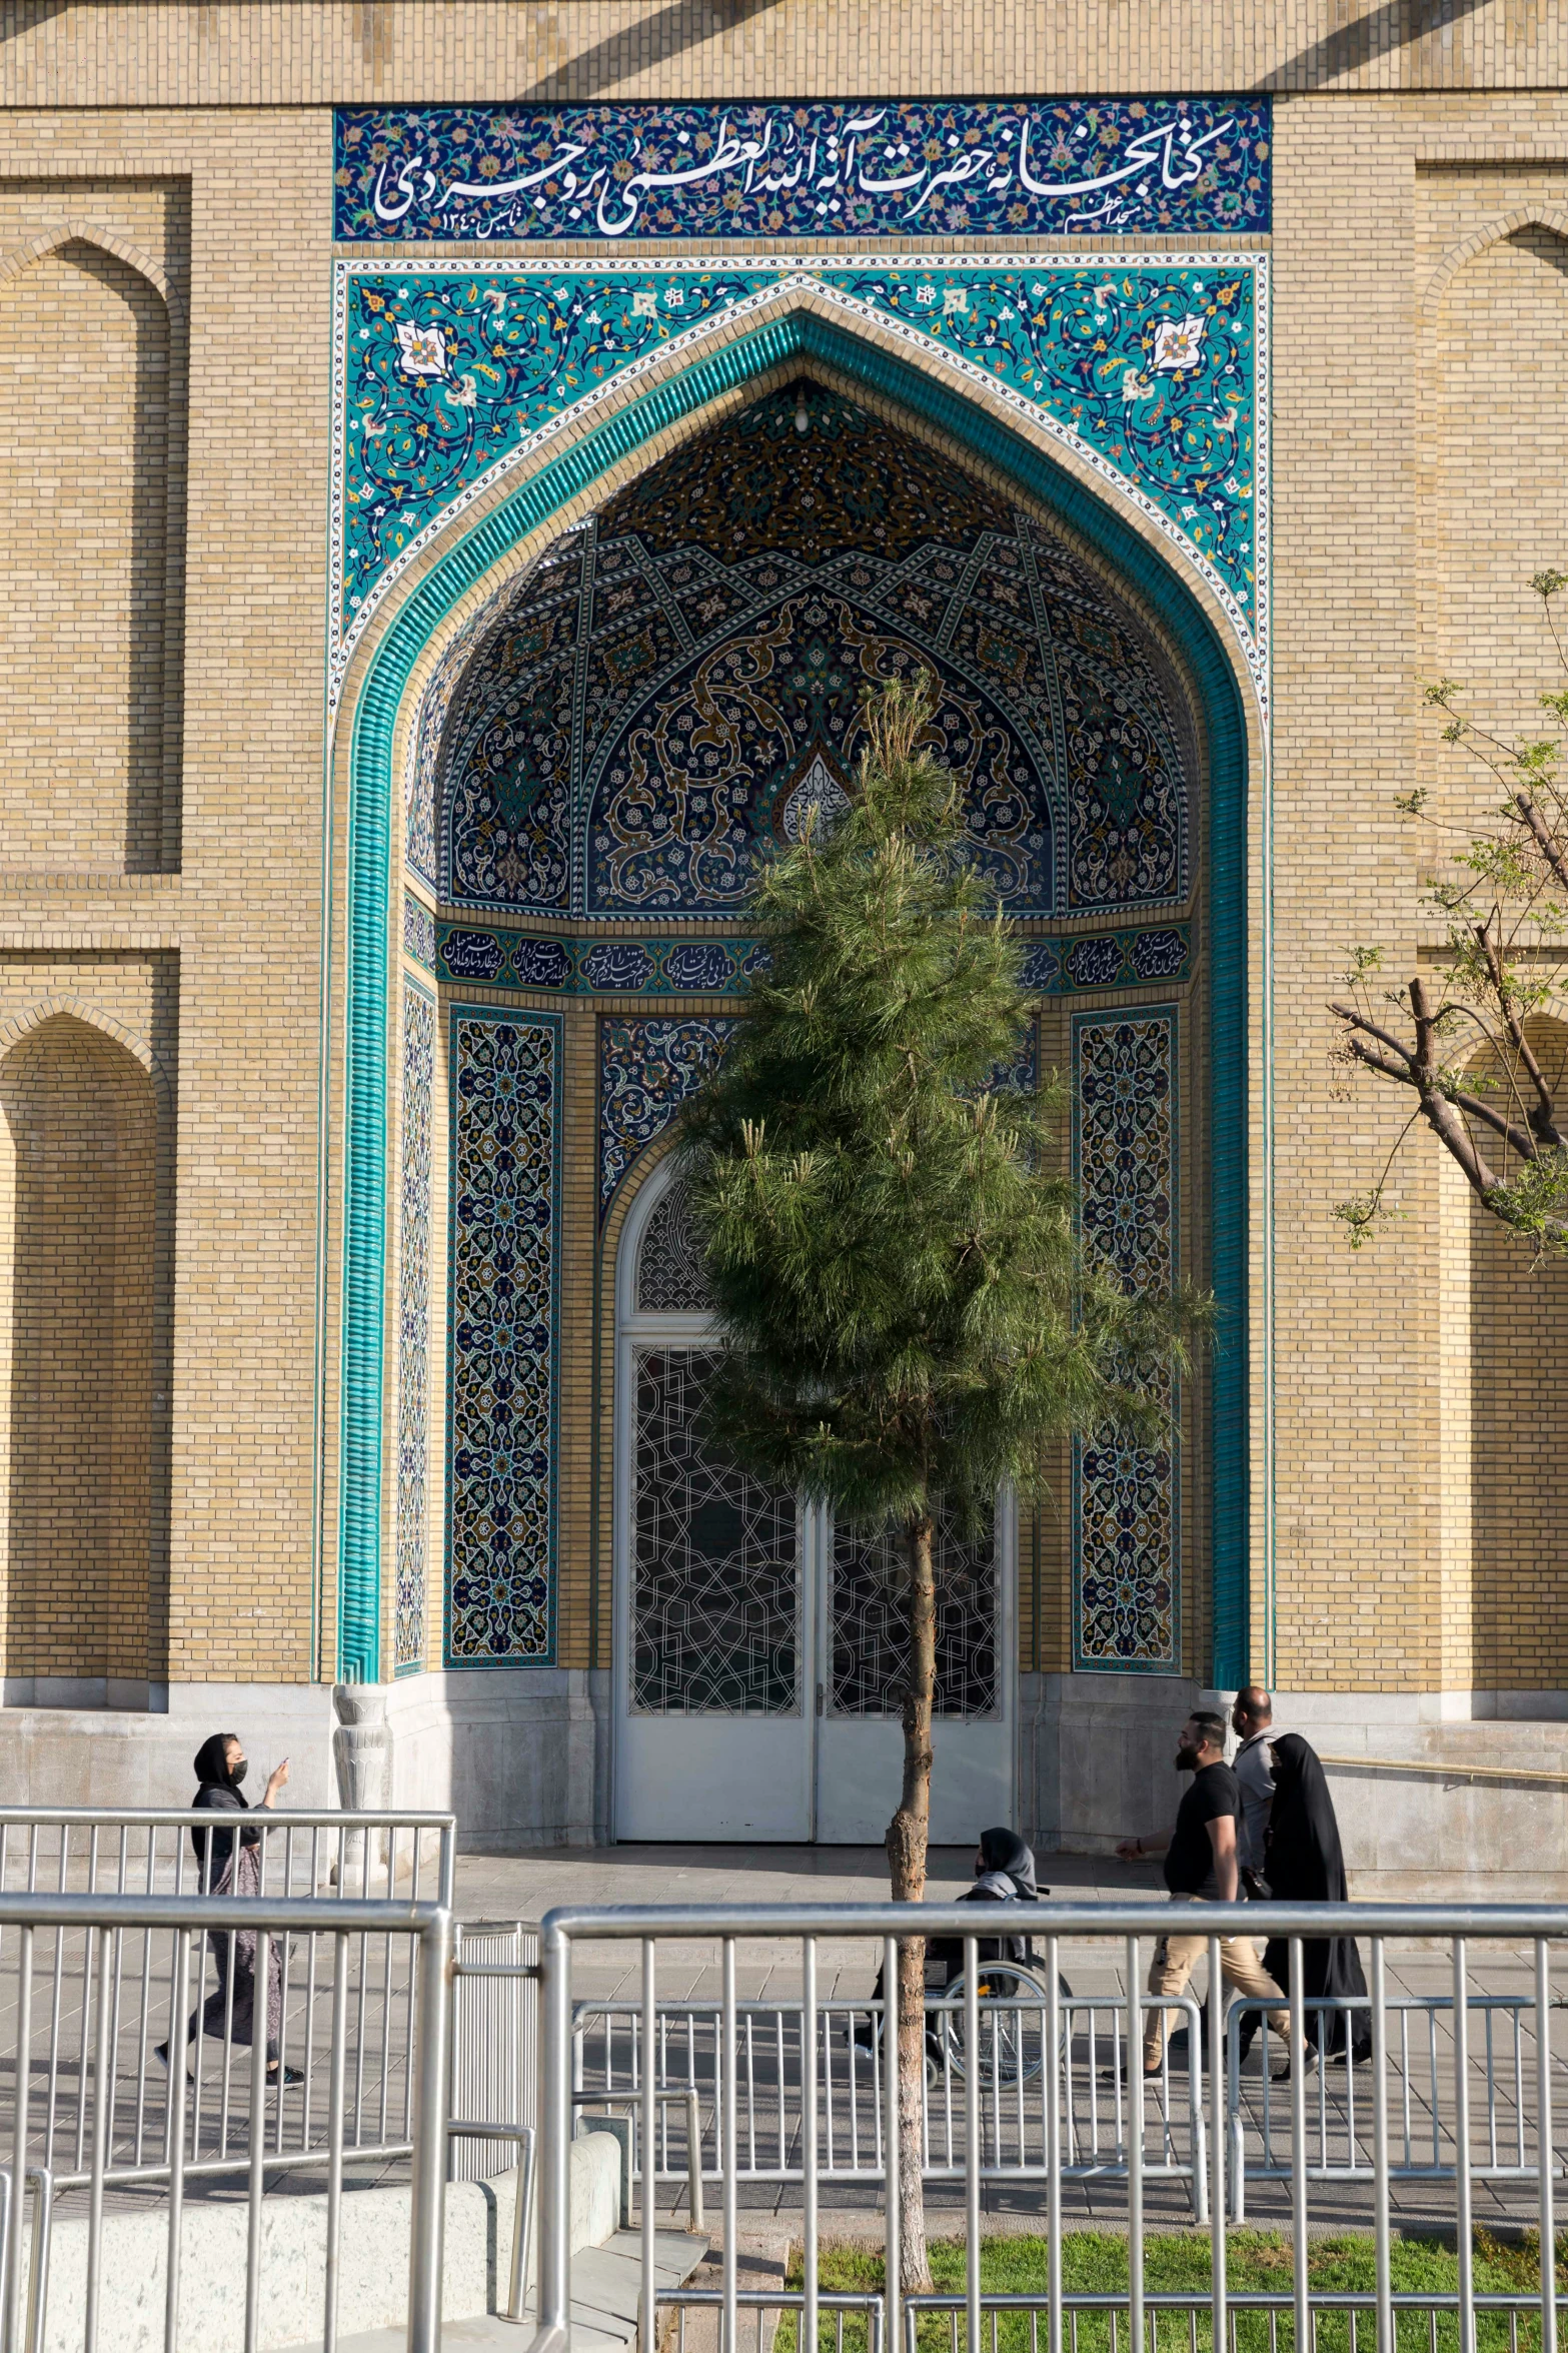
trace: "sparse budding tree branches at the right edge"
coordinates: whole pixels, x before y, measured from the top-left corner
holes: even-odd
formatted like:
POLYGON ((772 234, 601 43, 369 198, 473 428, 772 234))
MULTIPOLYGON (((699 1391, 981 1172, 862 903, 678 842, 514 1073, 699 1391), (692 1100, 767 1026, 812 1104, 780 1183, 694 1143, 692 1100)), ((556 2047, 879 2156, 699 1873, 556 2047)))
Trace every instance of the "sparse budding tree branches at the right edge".
MULTIPOLYGON (((1568 572, 1530 581, 1561 685, 1537 696, 1568 725, 1568 647, 1552 600, 1568 572)), ((1436 871, 1422 906, 1443 925, 1446 955, 1403 988, 1380 988, 1382 948, 1356 948, 1347 995, 1328 1009, 1340 1021, 1338 1061, 1413 1094, 1382 1174, 1340 1202, 1359 1249, 1387 1217, 1387 1184, 1399 1146, 1418 1120, 1462 1169, 1481 1207, 1526 1235, 1537 1252, 1568 1252, 1568 1122, 1559 1113, 1561 1056, 1540 1049, 1537 1016, 1561 1009, 1568 967, 1568 788, 1561 736, 1512 736, 1460 708, 1460 685, 1439 678, 1427 704, 1443 713, 1443 744, 1469 753, 1495 779, 1488 824, 1439 828, 1432 793, 1418 786, 1396 807, 1436 833, 1436 871)))

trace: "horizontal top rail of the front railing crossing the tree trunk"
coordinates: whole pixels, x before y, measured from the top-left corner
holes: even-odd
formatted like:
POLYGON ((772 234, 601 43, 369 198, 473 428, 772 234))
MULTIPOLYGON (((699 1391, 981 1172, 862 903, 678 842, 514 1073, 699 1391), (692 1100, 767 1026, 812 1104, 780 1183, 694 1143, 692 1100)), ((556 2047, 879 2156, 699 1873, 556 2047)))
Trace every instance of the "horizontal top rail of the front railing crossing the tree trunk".
MULTIPOLYGON (((5 1915, 0 1913, 0 1920, 5 1915)), ((1150 1937, 1173 1918, 1133 1904, 1030 1904, 1032 1937, 1150 1937)), ((1204 1904, 1206 1937, 1490 1937, 1568 1939, 1563 1904, 1204 1904)), ((973 1937, 969 1904, 559 1904, 538 1925, 543 1948, 639 1937, 973 1937)))

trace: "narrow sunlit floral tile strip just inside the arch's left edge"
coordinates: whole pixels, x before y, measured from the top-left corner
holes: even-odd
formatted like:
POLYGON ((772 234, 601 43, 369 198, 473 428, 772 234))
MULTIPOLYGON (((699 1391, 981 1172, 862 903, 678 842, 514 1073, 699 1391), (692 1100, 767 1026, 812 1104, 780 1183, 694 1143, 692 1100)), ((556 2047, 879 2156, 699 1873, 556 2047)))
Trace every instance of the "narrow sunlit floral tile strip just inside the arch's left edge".
POLYGON ((402 1188, 397 1202, 397 1569, 393 1581, 393 1671, 397 1675, 425 1664, 433 1089, 435 1000, 404 981, 402 1188))

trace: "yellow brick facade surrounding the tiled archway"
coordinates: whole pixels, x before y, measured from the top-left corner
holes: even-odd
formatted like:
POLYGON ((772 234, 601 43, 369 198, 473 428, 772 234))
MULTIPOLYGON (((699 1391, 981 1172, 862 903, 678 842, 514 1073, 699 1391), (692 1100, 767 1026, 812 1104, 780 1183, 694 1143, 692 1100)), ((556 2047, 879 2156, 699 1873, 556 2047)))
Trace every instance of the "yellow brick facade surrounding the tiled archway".
MULTIPOLYGON (((5 1313, 14 1367, 24 1355, 38 1365, 26 1299, 42 1285, 75 1301, 80 1313, 63 1318, 71 1346, 96 1365, 87 1379, 61 1341, 59 1367, 28 1374, 31 1402, 12 1379, 0 1449, 9 1445, 24 1506, 19 1518, 12 1504, 7 1692, 73 1675, 329 1682, 346 1640, 346 1527, 376 1508, 378 1657, 390 1680, 404 976, 442 1000, 428 1122, 428 1231, 442 1264, 456 1214, 447 1009, 562 1012, 555 1666, 609 1666, 614 1249, 635 1186, 602 1221, 597 1056, 599 1024, 649 1002, 437 981, 425 958, 402 953, 404 882, 433 920, 463 911, 404 873, 400 840, 386 859, 378 1344, 364 1339, 374 1297, 350 1297, 346 1311, 343 1292, 346 1214, 357 1217, 353 1186, 346 1193, 357 1148, 346 974, 362 920, 350 864, 364 824, 353 807, 362 699, 397 626, 423 609, 421 595, 435 598, 444 558, 494 522, 543 456, 477 496, 409 565, 348 661, 329 739, 331 106, 505 92, 1274 94, 1272 235, 1232 240, 1269 259, 1274 348, 1262 421, 1272 720, 1265 734, 1248 704, 1246 812, 1246 1664, 1295 1692, 1413 1701, 1568 1682, 1568 1612, 1554 1598, 1568 1506, 1561 1271, 1530 1268, 1476 1224, 1420 1141, 1401 1162, 1406 1221, 1349 1254, 1333 1207, 1368 1181, 1399 1106, 1371 1085, 1340 1099, 1326 1012, 1356 941, 1380 941, 1396 972, 1436 946, 1418 911, 1420 845, 1392 795, 1420 776, 1441 786, 1450 821, 1486 807, 1441 758, 1420 675, 1462 675, 1502 718, 1528 708, 1537 673, 1549 682, 1528 576, 1568 551, 1568 52, 1552 9, 1512 0, 1436 31, 1413 7, 1342 16, 1328 0, 1192 0, 1105 24, 1086 7, 804 0, 736 21, 642 0, 567 12, 498 0, 0 5, 5 1313), (24 1160, 40 1136, 68 1172, 56 1202, 24 1198, 24 1160), (357 1346, 381 1346, 390 1400, 378 1506, 364 1501, 362 1466, 343 1473, 343 1379, 350 1367, 353 1388, 357 1346), (110 1360, 103 1393, 115 1412, 103 1419, 94 1381, 110 1360), (56 1391, 68 1409, 56 1409, 56 1391), (136 1421, 129 1435, 125 1417, 136 1421), (28 1431, 42 1424, 49 1447, 33 1449, 24 1475, 28 1431)), ((1175 254, 1180 240, 1044 240, 1039 254, 1086 245, 1114 268, 1131 249, 1175 254)), ((1225 254, 1222 235, 1204 245, 1225 254)), ((952 256, 961 240, 884 249, 952 256)), ((581 259, 581 247, 531 245, 524 256, 498 245, 470 259, 515 256, 548 273, 574 252, 581 259)), ((418 261, 381 259, 390 271, 418 261)), ((689 259, 712 259, 712 247, 689 259)), ((802 301, 811 311, 813 296, 802 301)), ((715 351, 738 334, 717 334, 715 351)), ((898 355, 877 322, 865 344, 898 355)), ((835 381, 830 362, 780 362, 701 419, 661 426, 548 522, 496 544, 425 631, 388 720, 393 835, 418 696, 463 624, 567 525, 802 365, 835 381)), ((637 398, 677 372, 651 365, 637 398)), ((896 414, 893 395, 863 381, 844 376, 837 391, 896 414)), ((630 402, 630 391, 607 393, 599 421, 630 402)), ((919 431, 978 480, 1006 482, 940 424, 919 431)), ((1037 442, 1046 449, 1044 431, 1037 442)), ((1060 452, 1056 461, 1114 504, 1088 468, 1074 473, 1060 452)), ((1161 555, 1147 518, 1126 529, 1150 560, 1161 555)), ((1103 548, 1074 529, 1067 539, 1112 579, 1103 548)), ((1159 638, 1152 600, 1126 579, 1114 586, 1159 638)), ((1192 593, 1222 633, 1208 591, 1192 593)), ((1187 675, 1180 645, 1166 654, 1187 675)), ((1204 934, 1175 993, 1086 991, 1041 1014, 1041 1056, 1065 1064, 1070 1012, 1180 998, 1180 1228, 1182 1266, 1197 1275, 1208 1275, 1215 1247, 1201 1108, 1213 1075, 1206 887, 1199 878, 1171 911, 1204 934)), ((557 932, 588 939, 592 927, 557 932)), ((654 936, 649 925, 642 934, 654 936)), ((710 932, 677 918, 658 936, 710 932)), ((726 1009, 724 995, 658 1002, 672 1016, 726 1009)), ((423 1664, 435 1673, 451 1348, 440 1292, 425 1346, 423 1664)), ((1201 1685, 1215 1642, 1204 1381, 1182 1398, 1182 1428, 1180 1668, 1201 1685)), ((407 1551, 407 1522, 402 1541, 407 1551)), ((1027 1673, 1072 1666, 1070 1553, 1065 1511, 1023 1532, 1027 1673)))

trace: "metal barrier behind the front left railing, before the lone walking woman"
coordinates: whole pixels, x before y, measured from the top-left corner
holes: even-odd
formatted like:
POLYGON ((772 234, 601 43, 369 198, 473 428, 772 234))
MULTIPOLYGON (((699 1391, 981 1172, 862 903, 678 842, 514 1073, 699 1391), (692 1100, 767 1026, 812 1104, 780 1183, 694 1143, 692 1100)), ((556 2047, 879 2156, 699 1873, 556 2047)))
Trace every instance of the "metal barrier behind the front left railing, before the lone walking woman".
MULTIPOLYGON (((371 1913, 400 1899, 449 1911, 454 1840, 449 1814, 0 1807, 0 1901, 108 1904, 113 1922, 103 1937, 89 1911, 40 1915, 24 1955, 0 1911, 0 2019, 19 2014, 26 1958, 26 2099, 16 2094, 26 2169, 42 2169, 54 2195, 80 2188, 101 2139, 103 2177, 115 2186, 165 2184, 176 2158, 186 2179, 228 2172, 249 2151, 249 2049, 268 2040, 277 2057, 275 2099, 259 2127, 268 2167, 322 2160, 331 2129, 327 2061, 339 2049, 343 2146, 360 2158, 407 2155, 414 1946, 407 1934, 371 1927, 371 1913), (228 1897, 202 1889, 193 1831, 235 1840, 244 1892, 233 1901, 294 1908, 294 1932, 268 1955, 268 2033, 254 2045, 244 1986, 259 1979, 247 1967, 247 1941, 216 1929, 212 1906, 228 1897), (125 1911, 165 1899, 195 1906, 193 1922, 212 1929, 188 1946, 183 1981, 174 1941, 125 1911), (322 1941, 322 1904, 357 1906, 348 1948, 322 1941), (190 2035, 193 2082, 172 2146, 172 2042, 181 2031, 190 2035)), ((7 2122, 0 2094, 0 2134, 7 2122)))

